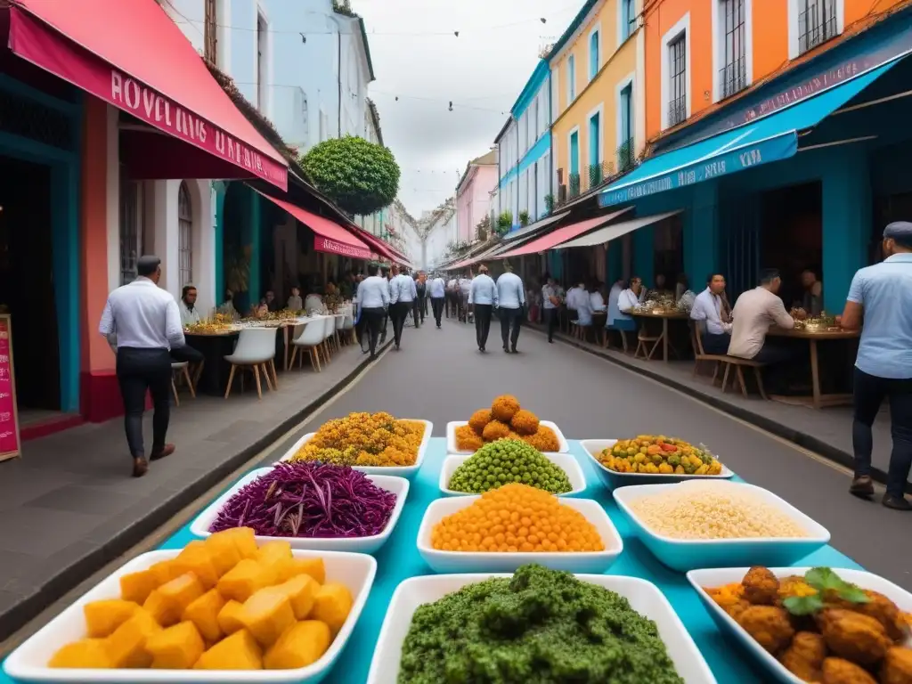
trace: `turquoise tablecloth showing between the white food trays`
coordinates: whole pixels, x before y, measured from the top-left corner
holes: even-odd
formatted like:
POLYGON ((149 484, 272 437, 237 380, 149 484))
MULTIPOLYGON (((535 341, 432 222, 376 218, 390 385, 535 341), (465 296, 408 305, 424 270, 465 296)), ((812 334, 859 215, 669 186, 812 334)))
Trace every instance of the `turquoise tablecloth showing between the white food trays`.
MULTIPOLYGON (((759 684, 762 682, 763 679, 758 674, 757 668, 750 661, 743 659, 744 655, 741 650, 735 648, 731 642, 720 641, 718 629, 700 604, 700 599, 689 586, 685 576, 658 563, 647 548, 639 542, 630 529, 627 518, 618 510, 611 493, 606 491, 597 479, 595 469, 586 458, 579 442, 571 441, 570 451, 574 453, 586 472, 586 482, 589 486, 582 496, 596 499, 605 506, 617 531, 624 538, 624 553, 617 559, 608 574, 643 577, 658 585, 678 612, 690 635, 697 642, 697 646, 720 684, 730 682, 738 682, 738 684, 757 682, 759 684)), ((371 654, 377 643, 389 599, 396 586, 408 577, 432 574, 430 568, 421 561, 415 546, 415 538, 418 535, 424 510, 430 502, 438 498, 440 493, 438 480, 440 466, 445 456, 446 440, 442 438, 430 440, 428 454, 420 472, 411 484, 409 500, 399 518, 399 525, 389 542, 377 554, 377 579, 368 598, 368 604, 361 614, 358 627, 355 628, 350 641, 339 657, 336 667, 325 679, 326 682, 358 684, 358 682, 367 681, 371 654)), ((161 548, 182 548, 192 539, 194 537, 190 533, 190 526, 187 525, 161 544, 161 548)), ((797 565, 859 567, 850 558, 830 546, 807 556, 797 565)), ((0 674, 0 684, 10 684, 12 681, 5 674, 0 674)))

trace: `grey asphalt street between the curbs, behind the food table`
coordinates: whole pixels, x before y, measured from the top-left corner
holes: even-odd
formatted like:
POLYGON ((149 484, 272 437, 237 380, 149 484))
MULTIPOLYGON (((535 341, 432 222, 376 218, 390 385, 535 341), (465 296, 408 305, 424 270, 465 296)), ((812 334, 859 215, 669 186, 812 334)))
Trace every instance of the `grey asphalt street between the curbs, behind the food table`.
MULTIPOLYGON (((474 327, 444 320, 406 329, 402 351, 390 351, 358 385, 320 414, 307 431, 349 411, 387 410, 402 418, 434 423, 445 435, 449 420, 467 420, 473 410, 505 392, 570 439, 673 434, 703 442, 747 482, 770 489, 824 524, 832 544, 865 568, 912 588, 912 547, 905 543, 912 516, 846 492, 847 472, 807 455, 716 409, 630 371, 524 330, 520 354, 504 354, 493 321, 488 353, 475 348, 474 327), (895 550, 884 553, 885 544, 895 550)), ((850 430, 850 425, 845 425, 850 430)), ((889 444, 876 444, 888 450, 889 444)))

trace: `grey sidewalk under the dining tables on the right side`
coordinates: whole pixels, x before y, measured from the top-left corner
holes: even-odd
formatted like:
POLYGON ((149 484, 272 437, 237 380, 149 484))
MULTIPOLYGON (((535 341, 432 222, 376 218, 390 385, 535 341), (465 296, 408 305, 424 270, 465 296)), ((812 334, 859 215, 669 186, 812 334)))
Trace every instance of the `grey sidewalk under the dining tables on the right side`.
MULTIPOLYGON (((544 333, 544 326, 527 324, 533 330, 544 333)), ((710 383, 711 365, 702 364, 710 375, 692 377, 693 361, 644 361, 633 358, 612 348, 606 350, 594 344, 582 342, 563 333, 557 333, 555 339, 583 349, 596 356, 606 358, 625 368, 636 371, 661 382, 668 387, 685 392, 689 397, 699 399, 710 406, 720 409, 732 416, 745 420, 763 430, 772 432, 782 439, 814 451, 847 468, 852 468, 852 408, 834 407, 831 409, 810 409, 803 406, 791 406, 776 401, 763 401, 751 395, 749 399, 741 396, 741 390, 721 389, 710 383)), ((648 410, 648 407, 644 407, 648 410)), ((889 411, 886 405, 874 424, 874 454, 872 457, 877 482, 886 482, 886 469, 890 459, 892 438, 890 437, 889 411)), ((760 456, 761 454, 758 454, 760 456)), ((907 486, 912 492, 912 483, 907 486)))

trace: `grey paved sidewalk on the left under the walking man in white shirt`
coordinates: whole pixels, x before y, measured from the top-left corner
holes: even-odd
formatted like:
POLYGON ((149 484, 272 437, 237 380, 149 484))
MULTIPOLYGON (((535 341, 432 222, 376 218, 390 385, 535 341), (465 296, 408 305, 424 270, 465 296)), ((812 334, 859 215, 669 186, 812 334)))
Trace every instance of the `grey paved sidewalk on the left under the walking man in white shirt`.
MULTIPOLYGON (((367 364, 342 348, 322 373, 279 374, 256 398, 181 393, 168 440, 177 451, 130 477, 123 421, 82 425, 25 443, 0 464, 0 641, 73 586, 152 534, 171 516, 330 399, 367 364)), ((145 437, 151 437, 151 411, 145 437)))

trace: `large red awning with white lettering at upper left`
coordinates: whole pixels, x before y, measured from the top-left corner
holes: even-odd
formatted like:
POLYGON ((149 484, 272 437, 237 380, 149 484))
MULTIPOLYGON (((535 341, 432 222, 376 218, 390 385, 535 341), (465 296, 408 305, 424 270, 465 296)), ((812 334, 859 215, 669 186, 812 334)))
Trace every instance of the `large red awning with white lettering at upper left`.
MULTIPOLYGON (((13 0, 9 47, 18 57, 206 151, 212 178, 262 178, 285 190, 288 165, 244 118, 181 29, 155 0, 13 0)), ((146 135, 152 135, 146 134, 146 135)), ((162 157, 177 148, 167 140, 162 157)), ((176 151, 175 151, 176 150, 176 151)), ((196 164, 199 167, 199 163, 196 164)), ((181 158, 171 163, 172 178, 181 158)))

